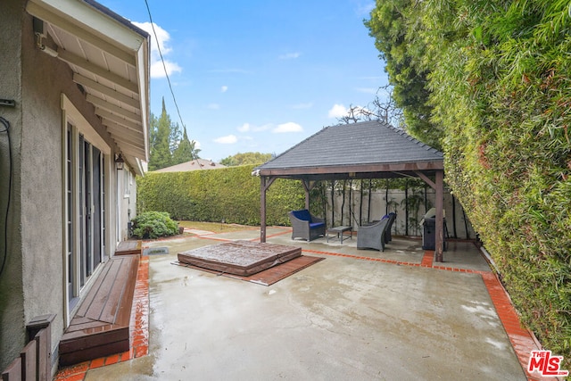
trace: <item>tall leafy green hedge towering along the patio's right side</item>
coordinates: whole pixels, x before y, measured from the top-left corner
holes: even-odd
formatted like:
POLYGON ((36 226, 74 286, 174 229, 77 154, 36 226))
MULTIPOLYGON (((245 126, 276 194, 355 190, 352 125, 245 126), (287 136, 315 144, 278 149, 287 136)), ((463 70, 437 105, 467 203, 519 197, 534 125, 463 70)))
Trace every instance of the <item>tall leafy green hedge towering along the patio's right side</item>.
POLYGON ((446 181, 525 326, 571 368, 569 1, 377 0, 371 16, 392 83, 427 72, 428 92, 406 90, 443 128, 446 181))

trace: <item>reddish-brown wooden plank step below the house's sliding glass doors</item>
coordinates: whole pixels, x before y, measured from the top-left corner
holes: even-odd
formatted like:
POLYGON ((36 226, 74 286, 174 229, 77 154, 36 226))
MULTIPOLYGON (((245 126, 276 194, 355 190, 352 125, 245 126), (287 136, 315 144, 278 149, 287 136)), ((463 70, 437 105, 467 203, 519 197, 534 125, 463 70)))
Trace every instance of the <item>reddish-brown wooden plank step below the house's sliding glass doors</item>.
POLYGON ((139 255, 114 256, 103 265, 60 341, 60 365, 129 350, 129 322, 139 255))

